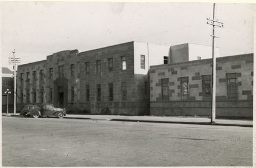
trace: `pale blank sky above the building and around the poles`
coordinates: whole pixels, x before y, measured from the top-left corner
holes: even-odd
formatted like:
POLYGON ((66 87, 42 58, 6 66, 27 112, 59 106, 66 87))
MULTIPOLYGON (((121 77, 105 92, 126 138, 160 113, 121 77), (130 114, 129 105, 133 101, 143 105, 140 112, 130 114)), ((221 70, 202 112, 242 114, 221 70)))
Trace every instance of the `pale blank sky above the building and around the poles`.
MULTIPOLYGON (((212 3, 0 2, 2 66, 13 49, 22 64, 62 50, 102 48, 129 41, 212 45, 212 3)), ((216 3, 221 56, 253 53, 255 4, 216 3)))

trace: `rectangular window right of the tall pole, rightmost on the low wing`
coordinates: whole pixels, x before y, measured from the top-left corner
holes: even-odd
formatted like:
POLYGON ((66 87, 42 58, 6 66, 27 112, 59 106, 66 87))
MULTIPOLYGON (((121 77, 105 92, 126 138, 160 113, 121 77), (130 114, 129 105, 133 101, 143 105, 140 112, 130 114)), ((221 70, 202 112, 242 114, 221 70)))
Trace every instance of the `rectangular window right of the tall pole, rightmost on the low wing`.
POLYGON ((237 73, 227 75, 227 98, 237 99, 237 73))

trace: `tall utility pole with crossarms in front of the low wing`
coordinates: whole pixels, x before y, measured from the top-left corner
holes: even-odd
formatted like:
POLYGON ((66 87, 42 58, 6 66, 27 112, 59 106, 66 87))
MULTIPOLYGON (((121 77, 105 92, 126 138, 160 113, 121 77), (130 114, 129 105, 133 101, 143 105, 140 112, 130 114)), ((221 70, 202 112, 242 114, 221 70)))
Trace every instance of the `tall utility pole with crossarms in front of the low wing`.
POLYGON ((214 52, 214 38, 218 38, 215 36, 215 27, 223 27, 223 23, 215 20, 215 3, 214 3, 214 16, 211 19, 207 19, 207 24, 212 25, 212 102, 211 102, 211 123, 215 122, 216 118, 216 58, 214 52))

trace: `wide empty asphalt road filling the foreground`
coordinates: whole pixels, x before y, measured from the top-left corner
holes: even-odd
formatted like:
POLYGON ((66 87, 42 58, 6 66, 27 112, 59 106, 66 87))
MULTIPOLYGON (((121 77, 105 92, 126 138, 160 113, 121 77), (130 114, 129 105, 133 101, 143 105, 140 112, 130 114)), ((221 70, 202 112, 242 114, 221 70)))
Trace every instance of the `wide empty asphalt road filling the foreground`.
POLYGON ((252 166, 253 128, 2 116, 2 166, 252 166))

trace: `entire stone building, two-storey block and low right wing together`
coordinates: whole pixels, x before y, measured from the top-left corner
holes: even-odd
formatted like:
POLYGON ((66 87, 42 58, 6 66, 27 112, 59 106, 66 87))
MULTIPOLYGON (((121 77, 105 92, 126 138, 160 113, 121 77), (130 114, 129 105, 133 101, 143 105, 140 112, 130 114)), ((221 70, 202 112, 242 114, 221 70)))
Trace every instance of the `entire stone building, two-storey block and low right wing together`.
MULTIPOLYGON (((209 116, 211 52, 203 45, 133 41, 54 53, 18 66, 17 109, 52 103, 69 114, 209 116)), ((216 61, 217 117, 251 118, 253 54, 216 61)))

